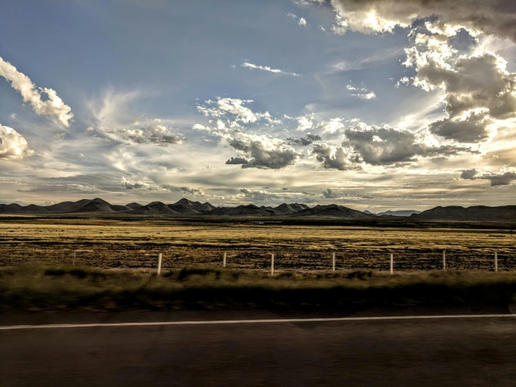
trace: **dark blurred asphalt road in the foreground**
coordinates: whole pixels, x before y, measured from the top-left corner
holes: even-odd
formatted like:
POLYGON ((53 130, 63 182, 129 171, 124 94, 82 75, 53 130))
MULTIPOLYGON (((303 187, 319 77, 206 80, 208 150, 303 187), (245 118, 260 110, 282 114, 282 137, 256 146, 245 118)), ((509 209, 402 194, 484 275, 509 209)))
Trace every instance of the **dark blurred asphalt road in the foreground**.
POLYGON ((0 330, 3 387, 515 384, 514 317, 0 330))

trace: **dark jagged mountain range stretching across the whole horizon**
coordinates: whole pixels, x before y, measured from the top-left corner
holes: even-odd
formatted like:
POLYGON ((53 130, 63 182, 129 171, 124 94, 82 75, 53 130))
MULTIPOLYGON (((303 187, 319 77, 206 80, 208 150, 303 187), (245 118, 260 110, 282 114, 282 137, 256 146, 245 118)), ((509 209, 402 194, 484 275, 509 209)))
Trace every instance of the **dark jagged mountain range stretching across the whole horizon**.
POLYGON ((215 207, 210 203, 200 203, 182 198, 177 203, 165 204, 152 202, 147 205, 128 203, 112 205, 101 198, 66 201, 53 205, 0 204, 0 214, 134 214, 134 215, 172 215, 196 216, 210 215, 221 217, 235 216, 293 216, 293 217, 337 217, 341 219, 395 219, 404 217, 410 220, 456 220, 456 221, 516 221, 516 205, 487 207, 434 207, 431 210, 386 211, 373 214, 369 211, 353 210, 343 205, 316 205, 309 207, 299 203, 283 203, 277 207, 257 205, 238 205, 236 207, 215 207))

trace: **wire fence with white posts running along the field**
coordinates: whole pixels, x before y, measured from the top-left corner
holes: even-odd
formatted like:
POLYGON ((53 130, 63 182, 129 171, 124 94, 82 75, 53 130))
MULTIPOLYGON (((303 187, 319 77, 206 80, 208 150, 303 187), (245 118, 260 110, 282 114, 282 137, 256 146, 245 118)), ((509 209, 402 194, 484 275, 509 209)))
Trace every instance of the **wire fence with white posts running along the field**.
MULTIPOLYGON (((377 249, 378 250, 378 249, 377 249)), ((386 249, 387 250, 387 249, 386 249)), ((103 252, 102 250, 95 250, 95 249, 49 249, 48 253, 49 256, 52 254, 52 260, 54 263, 59 262, 64 258, 65 262, 68 259, 68 264, 71 263, 72 265, 77 264, 84 264, 84 265, 91 265, 96 267, 117 267, 116 265, 112 265, 115 261, 124 261, 124 259, 127 258, 128 254, 131 254, 131 258, 128 258, 127 261, 131 261, 131 265, 124 264, 124 262, 119 262, 119 266, 126 267, 126 268, 149 268, 154 266, 156 268, 156 261, 154 261, 154 264, 152 264, 152 259, 149 259, 147 257, 154 256, 156 257, 156 249, 152 250, 138 250, 138 253, 145 253, 144 256, 146 260, 142 260, 141 256, 138 257, 138 253, 136 251, 131 251, 127 249, 110 249, 109 254, 111 256, 115 256, 117 259, 106 259, 105 254, 102 256, 102 259, 98 259, 98 257, 91 257, 91 253, 95 252, 103 252), (57 253, 57 254, 56 254, 57 253), (64 257, 61 257, 59 253, 63 253, 64 257), (81 253, 81 254, 78 254, 81 253), (124 256, 121 256, 121 255, 124 256), (71 258, 66 258, 66 255, 71 258), (93 261, 93 262, 92 262, 93 261), (101 261, 101 264, 96 264, 96 261, 101 261)), ((165 250, 166 251, 166 250, 165 250)), ((196 250, 191 250, 196 251, 196 250)), ((189 251, 189 253, 191 253, 189 251)), ((499 251, 493 249, 489 249, 487 251, 483 251, 484 254, 480 255, 480 253, 476 252, 476 254, 472 254, 473 256, 469 256, 464 250, 459 249, 458 251, 455 250, 449 250, 449 249, 436 249, 433 251, 425 251, 425 254, 418 254, 418 255, 408 255, 407 251, 401 250, 398 251, 397 254, 395 253, 389 253, 388 254, 388 267, 385 265, 385 258, 381 258, 382 254, 381 252, 378 252, 377 254, 374 254, 374 251, 371 252, 370 250, 364 250, 363 254, 360 254, 360 251, 353 251, 353 258, 349 258, 350 251, 342 250, 339 254, 339 269, 341 270, 388 270, 390 271, 390 274, 394 274, 394 264, 396 261, 396 268, 397 270, 434 270, 437 267, 436 262, 434 261, 436 252, 442 251, 442 270, 447 270, 448 268, 457 268, 457 269, 464 269, 464 270, 489 270, 498 272, 499 271, 499 251), (450 257, 448 257, 448 253, 450 253, 450 257), (373 256, 371 256, 373 254, 373 256), (360 258, 362 255, 369 256, 369 259, 360 258), (464 258, 464 256, 466 258, 464 258), (380 258, 379 258, 380 257, 380 258), (451 258, 451 260, 450 260, 451 258), (452 263, 450 266, 449 263, 452 263)), ((201 251, 203 252, 203 251, 201 251)), ((209 252, 211 255, 216 254, 213 251, 209 252)), ((230 252, 229 252, 230 253, 230 252)), ((279 268, 280 270, 331 270, 332 272, 337 271, 337 253, 338 251, 330 251, 330 252, 319 252, 319 251, 309 251, 310 256, 304 256, 303 254, 296 256, 292 256, 288 252, 284 255, 288 257, 287 260, 285 256, 277 256, 276 253, 270 255, 270 270, 271 275, 274 275, 274 271, 279 268), (328 257, 328 255, 330 257, 328 257), (325 260, 324 257, 331 258, 331 263, 329 264, 327 261, 327 258, 325 260), (277 258, 277 262, 276 261, 277 258), (279 267, 278 267, 279 264, 279 267)), ((512 252, 511 252, 512 253, 512 252)), ((512 253, 503 254, 502 256, 502 268, 503 270, 516 270, 516 259, 513 256, 512 253)), ((108 253, 106 253, 108 254, 108 253)), ((230 266, 233 268, 265 268, 267 266, 267 263, 265 260, 263 260, 263 257, 265 254, 265 251, 256 252, 256 254, 253 254, 253 251, 238 251, 231 255, 231 261, 230 266), (244 256, 242 256, 244 255, 244 256)), ((8 254, 0 254, 5 258, 8 256, 8 254)), ((40 261, 45 262, 45 257, 43 259, 41 258, 41 254, 32 254, 35 256, 33 259, 19 259, 16 263, 24 262, 24 261, 40 261)), ((220 257, 220 256, 219 256, 220 257)), ((385 255, 383 255, 385 257, 385 255)), ((387 257, 386 257, 387 258, 387 257)), ((154 258, 156 259, 156 258, 154 258)), ((219 258, 220 259, 220 258, 219 258)), ((4 259, 5 261, 5 259, 4 259)), ((228 251, 223 251, 223 260, 222 260, 222 266, 223 268, 228 267, 228 251)), ((48 261, 47 261, 48 262, 48 261)), ((167 253, 165 260, 163 260, 163 253, 158 253, 158 275, 161 274, 161 269, 163 267, 163 263, 165 267, 178 267, 178 266, 184 266, 184 265, 205 265, 205 264, 213 264, 213 258, 212 256, 207 256, 206 254, 202 255, 201 258, 198 257, 192 257, 192 256, 185 256, 181 254, 170 254, 167 253)), ((5 263, 3 261, 0 261, 0 265, 8 265, 8 263, 5 263)), ((220 265, 220 261, 219 261, 220 265)))

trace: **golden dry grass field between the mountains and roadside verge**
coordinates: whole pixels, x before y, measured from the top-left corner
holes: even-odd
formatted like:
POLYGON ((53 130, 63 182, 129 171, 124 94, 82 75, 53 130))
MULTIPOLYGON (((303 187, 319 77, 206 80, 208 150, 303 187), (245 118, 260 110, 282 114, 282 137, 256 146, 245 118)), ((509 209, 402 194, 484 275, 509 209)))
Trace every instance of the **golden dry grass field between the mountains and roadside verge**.
POLYGON ((221 265, 265 270, 276 254, 277 270, 395 270, 442 268, 516 269, 516 236, 508 230, 460 228, 379 228, 353 226, 285 226, 279 224, 209 224, 149 219, 3 218, 0 223, 0 265, 70 264, 96 268, 163 268, 221 265))

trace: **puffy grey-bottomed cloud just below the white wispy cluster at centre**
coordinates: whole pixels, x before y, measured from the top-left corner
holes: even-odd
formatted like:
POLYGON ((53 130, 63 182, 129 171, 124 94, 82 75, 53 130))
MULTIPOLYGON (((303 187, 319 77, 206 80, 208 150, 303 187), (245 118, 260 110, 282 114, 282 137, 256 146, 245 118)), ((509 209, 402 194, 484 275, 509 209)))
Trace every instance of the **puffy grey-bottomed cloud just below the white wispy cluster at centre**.
POLYGON ((281 169, 294 165, 300 154, 278 138, 240 134, 228 140, 231 147, 249 156, 242 168, 281 169))

